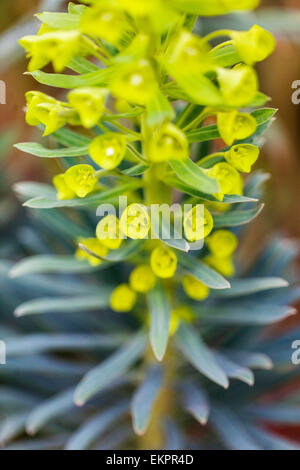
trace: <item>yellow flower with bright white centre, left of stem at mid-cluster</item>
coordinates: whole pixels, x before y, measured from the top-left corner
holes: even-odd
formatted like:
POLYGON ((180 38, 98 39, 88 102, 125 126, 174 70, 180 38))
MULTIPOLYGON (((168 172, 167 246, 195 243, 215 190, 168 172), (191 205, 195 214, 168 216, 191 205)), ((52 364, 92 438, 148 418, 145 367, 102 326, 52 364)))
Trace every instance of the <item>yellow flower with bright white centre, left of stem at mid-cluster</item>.
POLYGON ((99 166, 112 170, 120 165, 126 152, 126 137, 116 132, 96 137, 89 148, 89 153, 99 166))

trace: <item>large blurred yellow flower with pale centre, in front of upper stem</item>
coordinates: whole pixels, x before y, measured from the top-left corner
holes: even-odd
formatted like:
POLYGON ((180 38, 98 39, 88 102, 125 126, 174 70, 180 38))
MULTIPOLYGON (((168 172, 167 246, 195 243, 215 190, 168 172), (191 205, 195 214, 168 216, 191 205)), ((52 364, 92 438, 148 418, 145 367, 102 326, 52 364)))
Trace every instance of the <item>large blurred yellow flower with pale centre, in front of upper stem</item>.
POLYGON ((130 103, 146 104, 157 90, 157 82, 149 61, 141 59, 135 63, 116 65, 110 90, 116 98, 124 98, 130 103))

